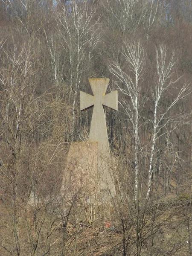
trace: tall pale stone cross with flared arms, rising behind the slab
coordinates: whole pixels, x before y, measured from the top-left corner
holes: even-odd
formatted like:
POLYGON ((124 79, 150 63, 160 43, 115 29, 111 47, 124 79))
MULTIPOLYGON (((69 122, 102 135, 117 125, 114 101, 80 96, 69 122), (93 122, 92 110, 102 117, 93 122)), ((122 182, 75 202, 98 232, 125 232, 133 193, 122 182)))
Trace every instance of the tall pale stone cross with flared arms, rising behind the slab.
POLYGON ((102 190, 110 190, 115 195, 113 175, 111 174, 109 161, 110 149, 108 142, 107 125, 103 105, 118 110, 117 91, 105 95, 109 79, 89 79, 93 96, 80 91, 80 109, 93 107, 93 115, 90 126, 89 140, 98 144, 98 171, 101 174, 102 190))

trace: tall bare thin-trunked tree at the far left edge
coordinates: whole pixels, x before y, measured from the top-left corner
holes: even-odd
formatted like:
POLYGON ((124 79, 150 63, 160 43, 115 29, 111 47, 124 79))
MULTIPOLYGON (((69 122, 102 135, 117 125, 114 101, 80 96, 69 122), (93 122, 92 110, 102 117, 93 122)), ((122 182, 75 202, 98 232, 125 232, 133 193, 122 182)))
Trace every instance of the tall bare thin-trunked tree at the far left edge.
POLYGON ((26 179, 23 166, 27 166, 26 134, 30 133, 30 129, 26 129, 26 123, 29 122, 32 114, 29 108, 35 91, 35 61, 30 44, 24 42, 20 45, 13 36, 11 39, 12 41, 7 40, 1 49, 3 58, 0 67, 0 134, 5 150, 4 154, 1 152, 3 158, 1 178, 9 184, 5 186, 2 182, 5 190, 3 201, 9 202, 10 211, 13 213, 15 250, 17 255, 20 255, 18 201, 26 179))

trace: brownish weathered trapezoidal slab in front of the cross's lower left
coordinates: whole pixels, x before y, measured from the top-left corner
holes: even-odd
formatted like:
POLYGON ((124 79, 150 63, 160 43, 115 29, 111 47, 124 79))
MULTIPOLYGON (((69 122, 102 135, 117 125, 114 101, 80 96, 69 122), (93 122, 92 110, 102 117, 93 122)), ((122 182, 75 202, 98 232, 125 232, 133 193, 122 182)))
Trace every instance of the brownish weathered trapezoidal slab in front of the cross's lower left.
POLYGON ((75 195, 95 198, 100 186, 98 144, 90 141, 71 143, 61 194, 67 195, 68 201, 73 201, 75 195))

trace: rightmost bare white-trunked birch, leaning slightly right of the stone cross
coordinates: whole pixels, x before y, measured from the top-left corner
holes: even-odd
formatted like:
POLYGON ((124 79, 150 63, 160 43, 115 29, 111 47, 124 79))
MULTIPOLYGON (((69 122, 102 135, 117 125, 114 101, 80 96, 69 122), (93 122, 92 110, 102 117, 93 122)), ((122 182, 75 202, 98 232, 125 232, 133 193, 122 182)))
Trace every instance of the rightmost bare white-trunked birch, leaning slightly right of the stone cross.
MULTIPOLYGON (((165 128, 170 122, 173 122, 171 116, 169 116, 169 111, 183 98, 185 98, 190 93, 189 84, 184 83, 180 86, 178 82, 181 77, 175 79, 174 68, 176 64, 176 59, 174 52, 169 58, 168 50, 164 46, 156 48, 156 74, 154 80, 154 87, 151 88, 151 94, 153 99, 153 120, 152 120, 152 138, 151 138, 151 151, 149 157, 149 170, 148 170, 148 190, 147 197, 151 190, 152 184, 152 175, 153 175, 153 163, 155 157, 155 145, 159 138, 159 132, 165 128), (175 88, 176 95, 172 97, 170 103, 166 108, 161 110, 161 101, 163 97, 166 96, 166 93, 169 93, 170 89, 175 88), (163 124, 162 124, 163 121, 163 124)), ((181 113, 177 113, 177 116, 180 116, 181 113)), ((173 126, 172 130, 175 130, 177 126, 173 126)), ((167 131, 167 134, 170 136, 170 131, 167 131)))

